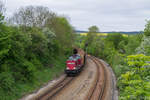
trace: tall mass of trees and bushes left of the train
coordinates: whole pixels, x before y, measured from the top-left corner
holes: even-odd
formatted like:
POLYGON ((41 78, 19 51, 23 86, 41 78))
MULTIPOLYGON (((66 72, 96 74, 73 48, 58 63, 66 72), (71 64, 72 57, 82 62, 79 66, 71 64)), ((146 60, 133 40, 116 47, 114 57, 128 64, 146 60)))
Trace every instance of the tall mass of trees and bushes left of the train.
POLYGON ((22 7, 7 21, 4 10, 0 2, 0 100, 13 100, 63 70, 74 34, 47 7, 22 7))

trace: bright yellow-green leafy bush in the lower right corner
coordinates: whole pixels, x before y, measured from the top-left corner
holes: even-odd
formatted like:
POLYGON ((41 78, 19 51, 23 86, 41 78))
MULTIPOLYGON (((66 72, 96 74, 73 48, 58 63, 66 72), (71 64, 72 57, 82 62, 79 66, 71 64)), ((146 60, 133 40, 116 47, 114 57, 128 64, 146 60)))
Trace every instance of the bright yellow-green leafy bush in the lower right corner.
POLYGON ((150 56, 143 54, 129 55, 126 61, 128 68, 130 66, 133 68, 130 68, 130 71, 125 72, 119 77, 120 100, 149 100, 147 97, 150 96, 150 56))

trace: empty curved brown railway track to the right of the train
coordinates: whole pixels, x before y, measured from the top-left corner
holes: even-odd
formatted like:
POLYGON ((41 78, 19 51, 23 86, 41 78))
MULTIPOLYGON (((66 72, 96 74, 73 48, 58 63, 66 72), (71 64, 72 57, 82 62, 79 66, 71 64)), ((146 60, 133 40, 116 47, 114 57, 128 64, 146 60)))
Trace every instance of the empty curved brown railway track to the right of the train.
POLYGON ((88 100, 105 100, 107 73, 103 63, 96 57, 89 56, 97 66, 97 77, 88 95, 88 100))

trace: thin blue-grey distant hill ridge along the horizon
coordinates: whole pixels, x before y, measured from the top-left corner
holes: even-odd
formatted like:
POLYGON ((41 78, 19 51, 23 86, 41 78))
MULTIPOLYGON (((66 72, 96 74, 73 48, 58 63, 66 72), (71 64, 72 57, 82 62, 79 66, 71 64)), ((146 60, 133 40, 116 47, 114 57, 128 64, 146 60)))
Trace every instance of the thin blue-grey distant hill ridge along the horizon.
MULTIPOLYGON (((76 33, 87 33, 88 31, 75 31, 76 33)), ((143 33, 142 31, 131 31, 131 32, 123 32, 123 31, 120 31, 120 32, 116 32, 116 31, 113 31, 113 32, 98 32, 98 33, 121 33, 121 34, 141 34, 143 33)))

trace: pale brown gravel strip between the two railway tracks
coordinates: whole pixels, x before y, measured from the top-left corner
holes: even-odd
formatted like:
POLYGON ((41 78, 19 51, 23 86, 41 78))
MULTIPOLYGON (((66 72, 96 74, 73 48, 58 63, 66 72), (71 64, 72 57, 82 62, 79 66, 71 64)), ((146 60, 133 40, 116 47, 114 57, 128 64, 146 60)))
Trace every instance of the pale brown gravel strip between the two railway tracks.
POLYGON ((85 100, 88 91, 93 85, 96 73, 95 63, 87 58, 85 68, 80 75, 75 77, 75 80, 73 80, 57 96, 51 98, 51 100, 85 100))

